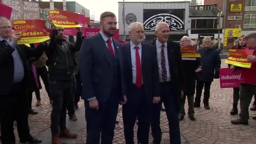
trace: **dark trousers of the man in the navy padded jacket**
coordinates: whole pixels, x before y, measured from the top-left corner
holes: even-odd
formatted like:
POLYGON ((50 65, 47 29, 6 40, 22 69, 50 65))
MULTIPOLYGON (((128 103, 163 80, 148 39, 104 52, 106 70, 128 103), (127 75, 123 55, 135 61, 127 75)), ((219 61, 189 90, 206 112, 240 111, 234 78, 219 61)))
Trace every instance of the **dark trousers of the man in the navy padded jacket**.
POLYGON ((209 104, 211 84, 212 84, 212 82, 203 82, 200 80, 196 80, 196 98, 195 98, 196 104, 200 104, 200 102, 201 102, 203 88, 204 88, 203 102, 204 102, 204 104, 209 104))

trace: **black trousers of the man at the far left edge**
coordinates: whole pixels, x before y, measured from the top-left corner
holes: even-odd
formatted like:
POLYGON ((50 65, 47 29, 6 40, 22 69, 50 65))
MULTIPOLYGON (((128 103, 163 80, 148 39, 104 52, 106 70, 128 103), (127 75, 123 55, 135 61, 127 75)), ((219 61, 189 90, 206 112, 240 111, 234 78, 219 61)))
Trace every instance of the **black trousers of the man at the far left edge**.
POLYGON ((0 96, 0 126, 2 144, 15 144, 14 120, 20 141, 32 139, 28 126, 28 95, 24 84, 13 84, 9 95, 0 96))

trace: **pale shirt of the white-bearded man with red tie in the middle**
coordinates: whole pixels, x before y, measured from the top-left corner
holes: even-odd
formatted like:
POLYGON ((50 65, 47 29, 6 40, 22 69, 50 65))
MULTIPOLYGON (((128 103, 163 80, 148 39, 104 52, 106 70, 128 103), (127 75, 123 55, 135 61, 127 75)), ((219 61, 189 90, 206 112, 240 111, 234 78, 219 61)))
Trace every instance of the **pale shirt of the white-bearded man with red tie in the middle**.
MULTIPOLYGON (((130 42, 130 49, 131 49, 131 58, 132 58, 132 83, 136 84, 136 48, 135 44, 130 42)), ((141 51, 142 51, 142 44, 138 44, 138 51, 140 55, 140 66, 141 66, 141 51)), ((142 84, 143 84, 143 79, 142 79, 142 84)))

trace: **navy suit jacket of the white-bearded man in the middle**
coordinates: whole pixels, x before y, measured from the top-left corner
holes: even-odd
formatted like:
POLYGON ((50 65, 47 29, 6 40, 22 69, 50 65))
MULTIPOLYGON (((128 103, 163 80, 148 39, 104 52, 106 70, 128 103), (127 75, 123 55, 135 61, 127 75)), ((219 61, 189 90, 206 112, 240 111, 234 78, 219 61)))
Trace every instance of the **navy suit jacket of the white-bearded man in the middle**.
MULTIPOLYGON (((133 85, 130 42, 122 45, 121 51, 124 58, 124 82, 126 84, 127 100, 129 100, 132 98, 131 91, 133 85)), ((153 97, 160 96, 160 83, 156 49, 151 44, 142 43, 141 70, 147 100, 149 103, 152 103, 153 97)))

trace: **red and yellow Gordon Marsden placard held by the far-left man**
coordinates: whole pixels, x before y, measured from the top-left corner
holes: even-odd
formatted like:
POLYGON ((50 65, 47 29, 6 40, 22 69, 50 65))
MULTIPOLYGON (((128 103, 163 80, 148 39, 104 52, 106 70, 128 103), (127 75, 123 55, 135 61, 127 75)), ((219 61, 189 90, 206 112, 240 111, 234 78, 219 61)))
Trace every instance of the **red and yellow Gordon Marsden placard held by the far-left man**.
POLYGON ((49 40, 50 37, 45 35, 45 22, 45 20, 14 20, 14 30, 20 32, 20 40, 17 44, 34 44, 49 40))

